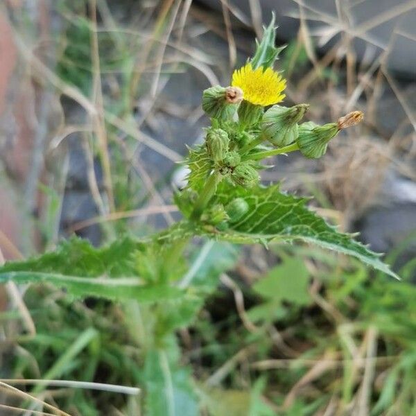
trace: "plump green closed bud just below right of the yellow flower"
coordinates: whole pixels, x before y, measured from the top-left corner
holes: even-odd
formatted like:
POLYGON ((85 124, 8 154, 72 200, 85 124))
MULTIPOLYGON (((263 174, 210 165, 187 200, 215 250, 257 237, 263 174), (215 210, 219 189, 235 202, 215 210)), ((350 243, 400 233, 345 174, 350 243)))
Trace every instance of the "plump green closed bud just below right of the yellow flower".
POLYGON ((264 139, 277 147, 293 143, 297 139, 297 123, 308 108, 308 104, 298 104, 290 108, 273 105, 264 113, 261 121, 261 134, 264 139))

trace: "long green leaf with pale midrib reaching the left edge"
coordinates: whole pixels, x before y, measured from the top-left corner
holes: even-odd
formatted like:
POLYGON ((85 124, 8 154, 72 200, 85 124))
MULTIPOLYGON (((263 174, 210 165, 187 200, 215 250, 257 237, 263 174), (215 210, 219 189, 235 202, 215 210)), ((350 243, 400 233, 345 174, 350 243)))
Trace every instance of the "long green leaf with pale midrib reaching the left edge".
POLYGON ((64 241, 55 252, 26 261, 9 262, 0 268, 0 283, 47 282, 67 289, 76 297, 105 297, 111 300, 134 298, 155 302, 180 297, 179 288, 168 284, 148 284, 137 275, 135 252, 148 243, 129 238, 94 248, 83 239, 64 241))

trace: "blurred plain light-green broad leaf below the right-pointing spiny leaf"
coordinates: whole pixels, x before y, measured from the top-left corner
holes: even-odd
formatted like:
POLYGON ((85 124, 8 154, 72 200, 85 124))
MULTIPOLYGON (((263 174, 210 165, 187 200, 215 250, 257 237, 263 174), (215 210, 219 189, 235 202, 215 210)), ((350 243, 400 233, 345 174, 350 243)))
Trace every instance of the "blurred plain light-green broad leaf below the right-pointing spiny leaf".
POLYGON ((279 305, 282 301, 306 305, 311 301, 308 292, 309 272, 303 261, 288 257, 257 281, 253 289, 259 295, 279 305))

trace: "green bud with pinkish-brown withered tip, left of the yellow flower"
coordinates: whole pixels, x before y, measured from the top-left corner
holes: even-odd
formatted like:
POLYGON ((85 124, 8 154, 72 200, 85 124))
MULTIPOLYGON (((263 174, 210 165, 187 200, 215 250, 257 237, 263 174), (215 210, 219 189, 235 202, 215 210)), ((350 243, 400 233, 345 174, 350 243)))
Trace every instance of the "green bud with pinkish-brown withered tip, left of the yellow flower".
POLYGON ((202 93, 202 110, 214 119, 232 119, 242 99, 243 92, 239 87, 216 85, 202 93))

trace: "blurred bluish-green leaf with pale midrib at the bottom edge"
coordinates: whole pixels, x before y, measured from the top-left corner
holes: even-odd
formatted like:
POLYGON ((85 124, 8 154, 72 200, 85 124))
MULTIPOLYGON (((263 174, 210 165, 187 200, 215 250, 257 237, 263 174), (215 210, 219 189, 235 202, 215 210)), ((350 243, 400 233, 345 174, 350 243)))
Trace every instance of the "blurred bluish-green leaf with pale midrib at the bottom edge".
POLYGON ((163 350, 147 354, 144 365, 146 415, 196 416, 190 371, 170 363, 163 350))

